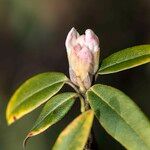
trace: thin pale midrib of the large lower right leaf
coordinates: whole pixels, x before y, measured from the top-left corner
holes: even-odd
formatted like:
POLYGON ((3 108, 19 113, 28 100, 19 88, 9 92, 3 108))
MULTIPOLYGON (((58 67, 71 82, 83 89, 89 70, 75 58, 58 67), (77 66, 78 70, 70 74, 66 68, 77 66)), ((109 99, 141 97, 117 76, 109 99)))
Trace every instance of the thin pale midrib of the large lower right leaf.
MULTIPOLYGON (((91 88, 91 91, 93 91, 93 93, 95 93, 98 97, 100 97, 100 95, 99 95, 97 92, 95 92, 92 88, 91 88)), ((109 103, 107 103, 107 102, 105 101, 105 98, 103 98, 103 96, 101 96, 101 99, 102 99, 102 101, 103 101, 104 103, 106 103, 115 113, 117 113, 117 114, 120 116, 120 118, 121 118, 124 122, 126 122, 126 124, 136 133, 136 135, 139 137, 139 139, 141 139, 141 141, 144 143, 144 145, 149 149, 149 146, 147 145, 147 143, 145 143, 145 141, 143 141, 141 135, 140 135, 139 133, 137 133, 137 132, 130 126, 130 124, 123 118, 123 116, 122 116, 121 114, 119 114, 109 103), (103 100, 103 99, 104 99, 104 100, 103 100)))

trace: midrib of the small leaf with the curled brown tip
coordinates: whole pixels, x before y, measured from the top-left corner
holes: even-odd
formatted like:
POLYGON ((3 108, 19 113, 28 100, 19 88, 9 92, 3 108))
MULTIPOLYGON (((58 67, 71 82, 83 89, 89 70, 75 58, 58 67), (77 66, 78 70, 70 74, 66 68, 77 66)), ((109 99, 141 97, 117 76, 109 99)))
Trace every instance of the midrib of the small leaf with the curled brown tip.
POLYGON ((45 118, 46 118, 47 116, 49 116, 51 112, 53 112, 53 111, 56 110, 58 107, 60 107, 62 104, 64 104, 65 102, 67 102, 68 100, 71 100, 71 99, 73 99, 73 98, 75 98, 75 95, 74 95, 74 96, 70 96, 69 98, 67 98, 67 100, 62 101, 62 103, 59 103, 57 106, 55 106, 53 109, 51 109, 51 111, 49 111, 49 113, 48 113, 43 119, 41 119, 40 121, 38 121, 38 123, 33 127, 33 129, 31 130, 31 132, 32 132, 32 131, 34 130, 34 128, 36 128, 43 120, 45 120, 45 118))

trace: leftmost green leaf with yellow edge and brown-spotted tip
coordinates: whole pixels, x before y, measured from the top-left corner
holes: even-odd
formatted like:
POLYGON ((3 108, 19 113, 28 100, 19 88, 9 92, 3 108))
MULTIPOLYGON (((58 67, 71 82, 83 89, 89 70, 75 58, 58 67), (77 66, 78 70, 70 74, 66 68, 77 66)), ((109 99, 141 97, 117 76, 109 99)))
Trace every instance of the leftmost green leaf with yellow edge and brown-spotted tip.
POLYGON ((42 73, 27 80, 17 89, 8 103, 6 110, 8 124, 46 102, 67 80, 64 74, 56 72, 42 73))

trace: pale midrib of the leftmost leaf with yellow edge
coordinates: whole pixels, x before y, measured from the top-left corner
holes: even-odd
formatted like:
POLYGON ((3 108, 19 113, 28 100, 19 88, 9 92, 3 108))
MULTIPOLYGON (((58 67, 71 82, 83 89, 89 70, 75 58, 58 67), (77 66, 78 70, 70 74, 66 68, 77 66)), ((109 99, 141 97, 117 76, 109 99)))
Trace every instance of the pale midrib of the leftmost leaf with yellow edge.
POLYGON ((32 93, 32 94, 30 94, 29 96, 25 97, 20 103, 18 103, 18 104, 14 107, 14 109, 11 110, 11 112, 10 112, 9 114, 11 114, 16 108, 18 108, 18 107, 19 107, 22 103, 24 103, 28 98, 34 96, 34 95, 37 94, 38 92, 41 92, 41 91, 43 91, 44 89, 51 87, 52 85, 55 85, 55 84, 58 84, 58 83, 63 83, 63 82, 65 82, 65 81, 62 80, 62 81, 59 81, 59 82, 54 82, 53 84, 50 84, 50 85, 48 85, 48 86, 45 86, 45 87, 43 87, 43 88, 41 88, 41 89, 35 91, 34 93, 32 93))

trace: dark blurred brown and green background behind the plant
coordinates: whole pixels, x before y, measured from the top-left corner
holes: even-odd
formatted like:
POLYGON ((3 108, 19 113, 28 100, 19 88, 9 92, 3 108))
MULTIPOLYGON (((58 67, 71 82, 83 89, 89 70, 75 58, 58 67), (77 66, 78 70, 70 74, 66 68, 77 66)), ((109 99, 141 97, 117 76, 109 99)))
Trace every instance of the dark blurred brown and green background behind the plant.
MULTIPOLYGON (((80 33, 87 28, 95 31, 103 59, 123 48, 150 43, 150 1, 0 0, 0 150, 21 150, 42 109, 8 127, 5 109, 15 89, 37 73, 61 71, 68 75, 64 42, 73 26, 80 33)), ((124 91, 150 118, 150 64, 98 80, 124 91)), ((77 102, 62 121, 33 137, 27 150, 51 149, 60 131, 79 112, 77 102)), ((94 131, 97 149, 124 149, 96 120, 94 131)))

